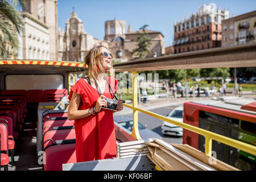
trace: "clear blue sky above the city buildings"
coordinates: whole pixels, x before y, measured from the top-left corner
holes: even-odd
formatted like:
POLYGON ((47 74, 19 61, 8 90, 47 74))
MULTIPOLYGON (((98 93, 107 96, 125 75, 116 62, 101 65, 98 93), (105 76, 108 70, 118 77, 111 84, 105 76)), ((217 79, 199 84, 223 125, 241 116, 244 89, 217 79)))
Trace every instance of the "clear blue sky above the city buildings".
POLYGON ((137 31, 144 24, 148 30, 162 32, 164 45, 172 46, 174 40, 174 20, 189 18, 190 14, 199 11, 203 6, 215 3, 221 9, 229 10, 229 17, 233 14, 241 15, 256 10, 256 0, 59 0, 57 5, 58 27, 65 31, 65 22, 75 9, 78 18, 84 23, 85 32, 94 38, 104 40, 105 21, 121 19, 129 24, 131 31, 137 31))

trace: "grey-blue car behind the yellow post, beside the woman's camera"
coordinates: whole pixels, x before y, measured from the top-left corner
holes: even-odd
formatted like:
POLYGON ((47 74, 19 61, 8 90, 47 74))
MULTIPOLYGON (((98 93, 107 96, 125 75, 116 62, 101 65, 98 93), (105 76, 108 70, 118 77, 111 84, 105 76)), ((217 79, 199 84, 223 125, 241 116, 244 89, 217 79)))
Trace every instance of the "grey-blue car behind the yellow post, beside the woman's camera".
MULTIPOLYGON (((114 117, 114 122, 117 122, 119 125, 125 127, 125 129, 129 131, 133 131, 133 118, 117 116, 117 117, 114 117)), ((162 139, 161 135, 155 133, 154 131, 146 129, 146 126, 143 126, 142 123, 140 122, 138 122, 138 128, 139 128, 139 135, 141 135, 142 139, 148 139, 148 138, 162 139)))

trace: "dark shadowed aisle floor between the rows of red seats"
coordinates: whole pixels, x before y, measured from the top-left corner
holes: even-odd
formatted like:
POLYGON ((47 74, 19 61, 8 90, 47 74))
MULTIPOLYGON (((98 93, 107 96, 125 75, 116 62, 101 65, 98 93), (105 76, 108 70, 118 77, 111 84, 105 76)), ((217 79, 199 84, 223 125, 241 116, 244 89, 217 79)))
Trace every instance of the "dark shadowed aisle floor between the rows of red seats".
MULTIPOLYGON (((18 142, 18 152, 14 153, 14 164, 9 163, 9 171, 42 171, 36 155, 36 128, 37 128, 37 107, 28 107, 27 118, 25 119, 21 138, 18 142)), ((16 145, 16 143, 15 143, 16 145)), ((1 168, 3 170, 3 168, 1 168)))

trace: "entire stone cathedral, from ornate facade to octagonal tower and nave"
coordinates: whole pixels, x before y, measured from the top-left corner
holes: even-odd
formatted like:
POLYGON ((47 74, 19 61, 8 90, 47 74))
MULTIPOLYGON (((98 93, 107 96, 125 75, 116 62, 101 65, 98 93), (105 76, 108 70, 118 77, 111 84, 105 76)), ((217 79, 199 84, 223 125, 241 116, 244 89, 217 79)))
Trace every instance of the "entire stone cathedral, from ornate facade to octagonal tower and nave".
MULTIPOLYGON (((95 46, 105 46, 113 53, 113 60, 124 62, 138 59, 133 53, 137 47, 137 39, 140 31, 131 31, 129 25, 126 32, 126 22, 124 20, 107 20, 105 22, 104 40, 93 38, 84 30, 82 20, 77 17, 75 12, 65 22, 65 31, 58 31, 58 59, 62 61, 84 61, 86 53, 95 46)), ((161 32, 146 30, 147 36, 150 37, 150 53, 146 57, 164 55, 164 36, 161 32)))

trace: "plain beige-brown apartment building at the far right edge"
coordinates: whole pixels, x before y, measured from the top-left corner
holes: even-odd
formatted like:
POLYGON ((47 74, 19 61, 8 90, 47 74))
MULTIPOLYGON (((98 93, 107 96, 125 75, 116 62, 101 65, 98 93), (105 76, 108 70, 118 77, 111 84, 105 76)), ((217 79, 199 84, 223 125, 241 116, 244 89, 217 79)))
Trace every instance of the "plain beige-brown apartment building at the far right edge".
POLYGON ((256 11, 222 21, 222 47, 256 42, 256 11))

